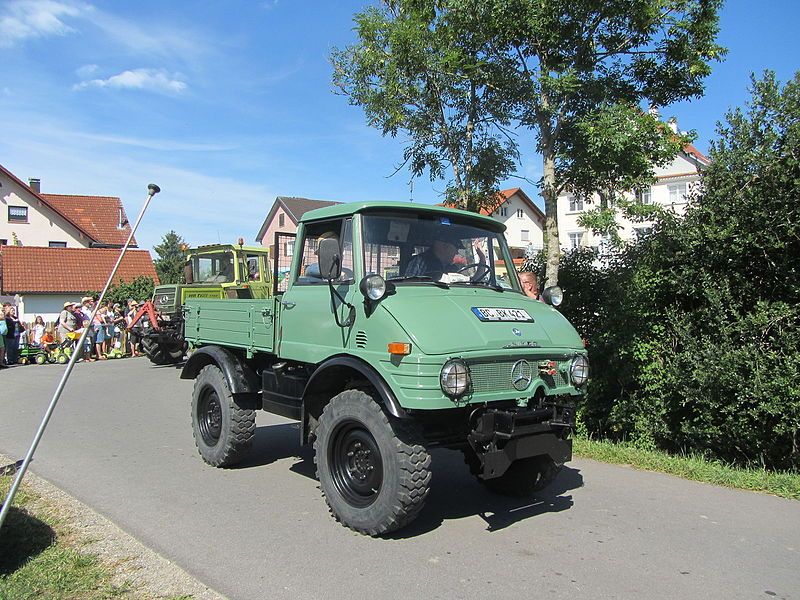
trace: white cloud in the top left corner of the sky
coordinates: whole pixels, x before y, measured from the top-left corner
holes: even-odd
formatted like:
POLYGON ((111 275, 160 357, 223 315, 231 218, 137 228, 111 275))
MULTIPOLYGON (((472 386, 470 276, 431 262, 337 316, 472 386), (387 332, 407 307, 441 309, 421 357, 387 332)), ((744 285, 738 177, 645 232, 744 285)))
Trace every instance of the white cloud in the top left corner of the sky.
POLYGON ((75 30, 64 17, 80 17, 91 7, 55 0, 16 0, 0 14, 0 47, 10 47, 30 38, 66 35, 75 30))

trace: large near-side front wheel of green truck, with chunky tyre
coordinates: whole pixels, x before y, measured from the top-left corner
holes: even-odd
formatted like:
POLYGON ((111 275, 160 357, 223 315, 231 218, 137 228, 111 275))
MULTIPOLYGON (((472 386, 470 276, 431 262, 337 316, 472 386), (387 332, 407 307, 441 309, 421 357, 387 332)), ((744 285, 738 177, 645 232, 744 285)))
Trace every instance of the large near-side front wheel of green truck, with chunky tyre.
POLYGON ((390 420, 369 393, 334 396, 319 418, 314 461, 336 520, 371 536, 413 521, 431 481, 421 441, 413 423, 390 420))

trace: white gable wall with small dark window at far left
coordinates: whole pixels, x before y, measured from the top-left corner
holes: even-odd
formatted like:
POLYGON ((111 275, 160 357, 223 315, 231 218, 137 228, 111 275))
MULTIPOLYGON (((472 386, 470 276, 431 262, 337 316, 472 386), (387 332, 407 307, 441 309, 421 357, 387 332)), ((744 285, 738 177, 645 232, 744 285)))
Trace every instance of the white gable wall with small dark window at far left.
POLYGON ((66 242, 68 248, 88 248, 89 240, 80 237, 74 225, 36 198, 30 190, 0 175, 0 239, 14 243, 14 234, 23 246, 49 246, 66 242), (27 223, 9 223, 8 207, 28 208, 27 223))

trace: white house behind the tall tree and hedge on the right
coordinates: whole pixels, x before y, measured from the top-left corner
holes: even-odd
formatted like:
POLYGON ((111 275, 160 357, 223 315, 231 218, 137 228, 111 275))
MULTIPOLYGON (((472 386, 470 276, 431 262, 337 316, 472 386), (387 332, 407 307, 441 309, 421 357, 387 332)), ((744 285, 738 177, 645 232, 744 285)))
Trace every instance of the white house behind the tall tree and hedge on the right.
MULTIPOLYGON (((670 119, 668 125, 673 132, 678 132, 675 119, 670 119)), ((703 170, 710 164, 709 159, 695 148, 687 144, 675 159, 668 165, 656 167, 656 181, 651 186, 631 190, 627 193, 629 198, 634 196, 645 204, 661 205, 677 215, 683 215, 691 202, 692 195, 700 187, 703 170)), ((565 190, 558 197, 558 229, 562 248, 575 248, 578 246, 591 246, 604 248, 608 240, 595 235, 578 223, 581 215, 599 206, 599 197, 595 194, 589 200, 579 198, 565 190)), ((622 215, 617 215, 620 225, 619 234, 623 241, 640 238, 652 229, 651 222, 633 223, 622 215)))

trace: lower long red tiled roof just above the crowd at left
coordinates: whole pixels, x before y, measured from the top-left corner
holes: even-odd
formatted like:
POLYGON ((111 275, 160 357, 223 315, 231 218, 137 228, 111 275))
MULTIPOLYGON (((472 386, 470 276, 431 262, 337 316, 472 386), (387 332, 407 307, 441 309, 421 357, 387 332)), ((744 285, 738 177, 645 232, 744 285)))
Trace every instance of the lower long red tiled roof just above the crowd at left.
MULTIPOLYGON (((40 248, 3 246, 0 251, 0 289, 5 294, 100 291, 119 257, 116 248, 40 248)), ((114 283, 144 275, 158 284, 147 250, 128 250, 114 283)))

